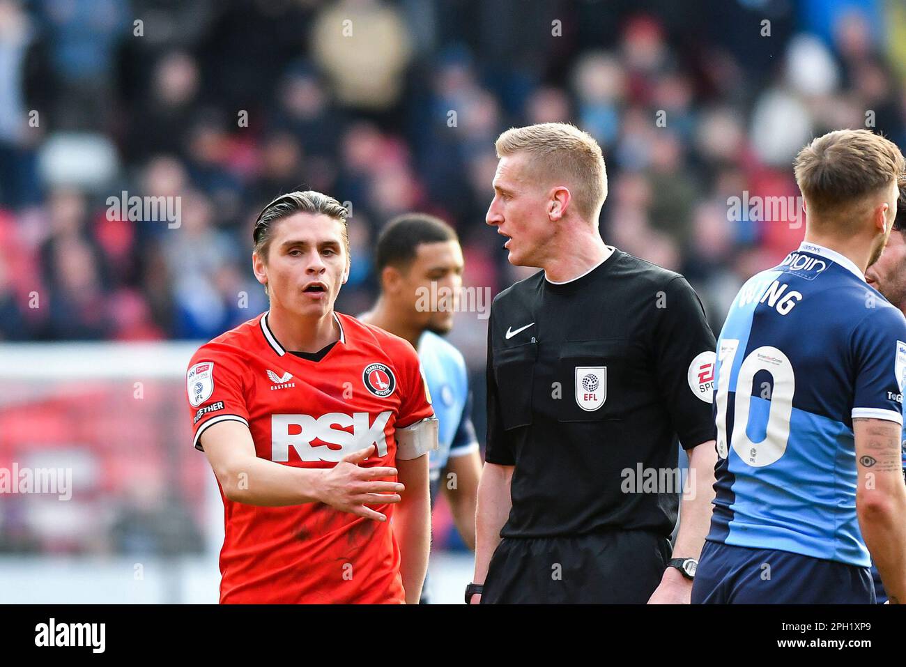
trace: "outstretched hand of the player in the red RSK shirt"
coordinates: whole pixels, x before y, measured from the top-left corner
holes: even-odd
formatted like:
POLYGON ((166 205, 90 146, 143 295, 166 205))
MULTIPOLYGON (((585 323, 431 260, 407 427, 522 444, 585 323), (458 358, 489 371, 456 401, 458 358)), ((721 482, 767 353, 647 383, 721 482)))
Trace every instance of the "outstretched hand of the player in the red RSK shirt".
POLYGON ((365 507, 400 502, 406 488, 400 482, 381 481, 395 477, 395 468, 361 468, 359 464, 371 456, 374 445, 347 454, 332 469, 324 470, 321 480, 321 501, 359 517, 386 521, 381 512, 365 507))

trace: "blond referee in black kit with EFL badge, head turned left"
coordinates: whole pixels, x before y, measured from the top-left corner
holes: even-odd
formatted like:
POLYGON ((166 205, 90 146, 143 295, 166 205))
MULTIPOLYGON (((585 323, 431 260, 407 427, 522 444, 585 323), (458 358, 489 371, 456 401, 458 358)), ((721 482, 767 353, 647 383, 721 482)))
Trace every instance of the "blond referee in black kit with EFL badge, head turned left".
POLYGON ((689 603, 717 460, 716 343, 699 297, 604 245, 591 136, 542 123, 504 132, 496 151, 487 224, 511 264, 543 270, 491 307, 467 602, 689 603), (692 486, 671 555, 677 438, 692 486))

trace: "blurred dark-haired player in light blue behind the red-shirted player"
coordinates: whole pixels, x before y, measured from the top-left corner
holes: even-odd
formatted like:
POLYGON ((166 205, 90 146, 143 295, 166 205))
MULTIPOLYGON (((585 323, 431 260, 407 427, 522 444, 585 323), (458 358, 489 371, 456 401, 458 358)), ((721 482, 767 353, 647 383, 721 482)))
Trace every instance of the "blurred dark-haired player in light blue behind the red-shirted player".
MULTIPOLYGON (((375 255, 381 295, 359 319, 405 338, 419 353, 439 420, 439 448, 430 455, 431 503, 443 489, 459 535, 474 550, 481 454, 471 420, 466 362, 441 337, 452 329, 458 308, 462 248, 443 220, 412 213, 383 228, 375 255)), ((428 585, 423 590, 424 603, 428 585)))

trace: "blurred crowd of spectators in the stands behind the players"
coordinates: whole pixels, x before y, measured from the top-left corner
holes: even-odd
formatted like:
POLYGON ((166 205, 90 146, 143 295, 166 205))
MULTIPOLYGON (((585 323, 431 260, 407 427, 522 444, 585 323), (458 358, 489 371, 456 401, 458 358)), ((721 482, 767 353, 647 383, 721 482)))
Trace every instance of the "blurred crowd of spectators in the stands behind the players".
POLYGON ((532 271, 484 224, 494 140, 539 121, 601 143, 602 237, 687 275, 718 327, 804 231, 728 199, 797 195, 830 129, 906 145, 904 50, 885 0, 0 0, 0 339, 222 333, 266 308, 251 225, 291 189, 352 205, 339 310, 371 304, 376 234, 414 209, 496 294, 532 271), (123 193, 181 198, 178 226, 111 214, 123 193))

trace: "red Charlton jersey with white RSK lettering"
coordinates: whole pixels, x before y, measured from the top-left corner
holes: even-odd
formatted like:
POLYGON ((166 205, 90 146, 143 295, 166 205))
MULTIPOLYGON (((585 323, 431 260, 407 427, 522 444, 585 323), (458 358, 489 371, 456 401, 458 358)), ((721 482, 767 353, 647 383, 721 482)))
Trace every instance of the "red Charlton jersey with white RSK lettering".
MULTIPOLYGON (((262 459, 333 468, 371 444, 362 466, 396 465, 394 429, 433 415, 407 341, 335 314, 340 341, 320 361, 284 350, 267 314, 241 324, 192 357, 188 401, 195 446, 213 424, 246 424, 262 459)), ((219 482, 217 483, 219 487, 219 482)), ((392 505, 369 506, 387 522, 323 503, 255 507, 224 496, 221 603, 402 603, 392 505)))

